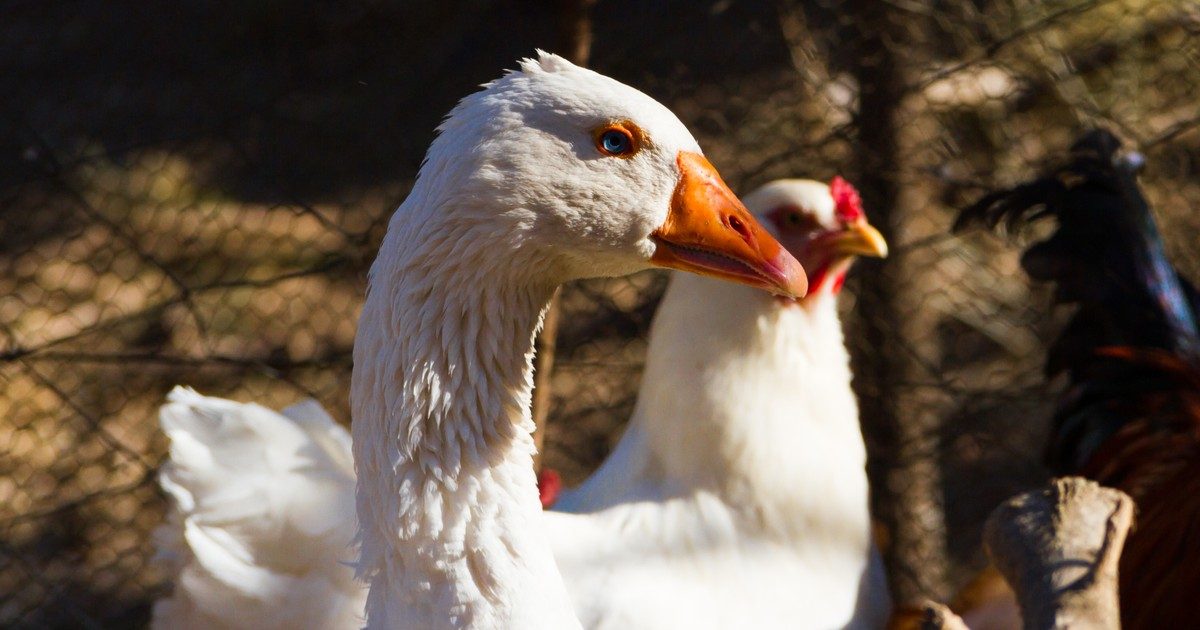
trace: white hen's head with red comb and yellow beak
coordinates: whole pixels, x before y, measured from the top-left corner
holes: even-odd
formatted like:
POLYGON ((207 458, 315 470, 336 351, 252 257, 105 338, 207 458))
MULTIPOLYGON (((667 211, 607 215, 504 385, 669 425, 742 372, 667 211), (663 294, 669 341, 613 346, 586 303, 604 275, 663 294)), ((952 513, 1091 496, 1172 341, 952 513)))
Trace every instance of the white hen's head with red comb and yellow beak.
POLYGON ((883 235, 866 222, 858 191, 841 178, 828 185, 776 180, 748 194, 746 204, 809 272, 814 299, 841 290, 858 257, 888 254, 883 235))

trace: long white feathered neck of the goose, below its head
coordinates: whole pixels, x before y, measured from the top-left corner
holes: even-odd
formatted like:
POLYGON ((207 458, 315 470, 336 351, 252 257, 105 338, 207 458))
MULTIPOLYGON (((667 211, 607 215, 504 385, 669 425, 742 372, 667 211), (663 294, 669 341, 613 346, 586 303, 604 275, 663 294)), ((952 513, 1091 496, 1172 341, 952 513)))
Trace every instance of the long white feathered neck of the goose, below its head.
POLYGON ((468 246, 469 227, 404 218, 372 268, 354 347, 367 625, 575 626, 532 464, 533 340, 553 283, 506 272, 517 257, 468 246))

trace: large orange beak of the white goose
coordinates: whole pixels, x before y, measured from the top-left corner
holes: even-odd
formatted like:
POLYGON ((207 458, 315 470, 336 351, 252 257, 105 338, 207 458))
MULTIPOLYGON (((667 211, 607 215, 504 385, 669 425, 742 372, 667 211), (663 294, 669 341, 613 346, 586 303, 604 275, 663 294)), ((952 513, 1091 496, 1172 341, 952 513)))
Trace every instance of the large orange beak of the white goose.
POLYGON ((704 156, 680 151, 671 211, 654 230, 650 263, 803 298, 800 263, 750 215, 704 156))

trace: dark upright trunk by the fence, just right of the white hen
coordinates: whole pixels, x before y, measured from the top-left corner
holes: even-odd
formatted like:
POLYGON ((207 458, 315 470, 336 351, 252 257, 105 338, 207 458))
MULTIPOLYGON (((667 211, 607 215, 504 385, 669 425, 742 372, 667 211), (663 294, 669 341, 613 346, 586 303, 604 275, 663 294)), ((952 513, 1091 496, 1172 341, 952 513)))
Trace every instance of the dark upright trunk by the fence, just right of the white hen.
MULTIPOLYGON (((902 170, 907 163, 901 137, 902 54, 917 25, 890 2, 858 0, 847 8, 848 70, 859 91, 854 181, 871 222, 896 242, 914 199, 900 178, 913 176, 902 170)), ((922 274, 928 270, 904 254, 860 271, 856 308, 869 313, 862 319, 864 352, 857 356, 856 386, 871 455, 871 506, 887 534, 882 552, 893 599, 911 607, 947 595, 940 416, 932 403, 904 386, 916 374, 913 353, 906 348, 931 325, 931 314, 913 298, 920 295, 922 274)))

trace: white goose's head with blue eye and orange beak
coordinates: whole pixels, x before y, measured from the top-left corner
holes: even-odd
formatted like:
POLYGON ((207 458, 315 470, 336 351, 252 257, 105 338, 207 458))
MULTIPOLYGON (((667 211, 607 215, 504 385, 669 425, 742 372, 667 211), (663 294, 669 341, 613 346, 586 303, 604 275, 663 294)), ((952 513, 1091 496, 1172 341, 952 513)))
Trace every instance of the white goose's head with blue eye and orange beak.
POLYGON ((430 221, 478 236, 472 247, 486 251, 473 264, 520 259, 554 283, 659 266, 785 296, 808 289, 800 264, 667 108, 563 58, 523 60, 464 98, 439 132, 413 196, 437 191, 432 205, 445 212, 430 221))

